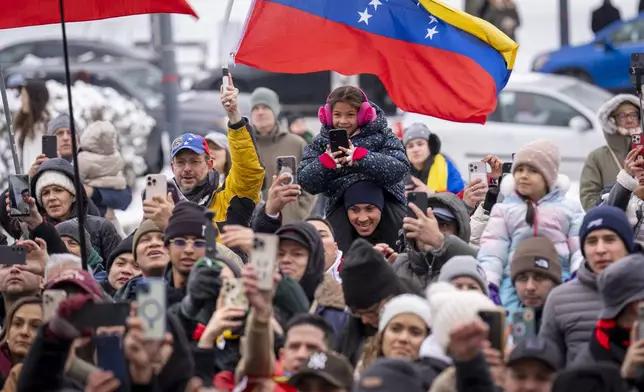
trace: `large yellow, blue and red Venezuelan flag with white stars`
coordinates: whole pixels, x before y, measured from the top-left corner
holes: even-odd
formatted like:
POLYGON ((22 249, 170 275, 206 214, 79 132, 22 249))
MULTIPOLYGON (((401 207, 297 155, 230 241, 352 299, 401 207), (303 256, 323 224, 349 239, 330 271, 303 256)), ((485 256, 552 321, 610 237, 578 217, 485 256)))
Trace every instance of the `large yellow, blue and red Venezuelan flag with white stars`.
POLYGON ((402 110, 484 123, 517 49, 491 24, 437 0, 254 0, 235 61, 374 74, 402 110))

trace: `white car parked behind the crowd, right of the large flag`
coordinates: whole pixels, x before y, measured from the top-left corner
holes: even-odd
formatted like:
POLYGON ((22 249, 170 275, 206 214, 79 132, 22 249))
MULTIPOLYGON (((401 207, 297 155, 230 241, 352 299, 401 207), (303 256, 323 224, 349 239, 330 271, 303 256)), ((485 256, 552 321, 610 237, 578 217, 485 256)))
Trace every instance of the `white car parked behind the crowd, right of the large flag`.
POLYGON ((561 153, 560 172, 578 181, 588 154, 605 144, 597 120, 611 94, 581 80, 539 73, 513 74, 485 125, 462 124, 405 113, 403 126, 425 123, 442 141, 442 152, 463 176, 468 163, 492 154, 504 162, 524 144, 550 139, 561 153))

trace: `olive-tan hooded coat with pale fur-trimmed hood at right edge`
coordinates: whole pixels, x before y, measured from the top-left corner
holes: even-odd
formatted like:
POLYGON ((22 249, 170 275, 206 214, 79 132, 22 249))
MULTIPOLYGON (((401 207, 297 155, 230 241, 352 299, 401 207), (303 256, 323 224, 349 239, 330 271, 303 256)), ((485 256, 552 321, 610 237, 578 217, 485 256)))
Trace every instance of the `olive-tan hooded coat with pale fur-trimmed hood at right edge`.
POLYGON ((626 102, 639 108, 639 99, 636 96, 620 94, 604 103, 597 113, 606 138, 606 145, 588 155, 581 172, 579 196, 586 211, 597 204, 604 187, 615 181, 631 149, 631 136, 628 133, 635 130, 619 129, 612 117, 615 109, 626 102), (626 135, 623 135, 624 133, 626 135))

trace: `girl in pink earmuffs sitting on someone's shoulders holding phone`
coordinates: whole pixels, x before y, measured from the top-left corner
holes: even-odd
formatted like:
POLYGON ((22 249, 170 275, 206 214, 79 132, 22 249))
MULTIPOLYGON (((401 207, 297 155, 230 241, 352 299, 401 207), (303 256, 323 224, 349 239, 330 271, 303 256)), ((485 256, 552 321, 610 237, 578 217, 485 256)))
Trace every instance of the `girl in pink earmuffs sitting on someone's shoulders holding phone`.
MULTIPOLYGON (((403 179, 409 173, 409 162, 402 143, 387 126, 384 112, 359 88, 342 86, 331 92, 319 118, 320 134, 304 150, 298 179, 305 191, 324 193, 329 198, 326 218, 342 241, 340 249, 346 251, 358 237, 344 200, 345 192, 358 183, 372 183, 382 189, 380 225, 396 234, 406 213, 403 179), (331 151, 332 129, 346 130, 348 148, 331 151)), ((395 246, 395 239, 390 246, 395 246)))

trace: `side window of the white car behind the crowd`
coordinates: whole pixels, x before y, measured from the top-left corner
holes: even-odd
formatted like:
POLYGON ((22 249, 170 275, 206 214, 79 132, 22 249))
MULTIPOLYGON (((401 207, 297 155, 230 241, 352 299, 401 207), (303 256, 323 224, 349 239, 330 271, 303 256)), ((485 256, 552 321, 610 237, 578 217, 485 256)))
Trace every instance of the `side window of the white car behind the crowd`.
POLYGON ((568 127, 573 117, 582 116, 570 105, 545 95, 503 91, 497 110, 502 122, 523 125, 568 127))

